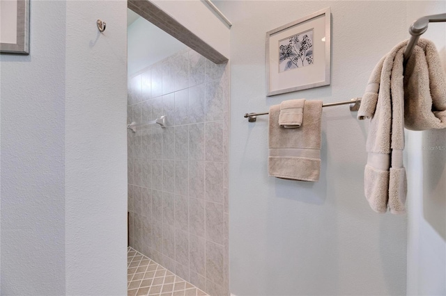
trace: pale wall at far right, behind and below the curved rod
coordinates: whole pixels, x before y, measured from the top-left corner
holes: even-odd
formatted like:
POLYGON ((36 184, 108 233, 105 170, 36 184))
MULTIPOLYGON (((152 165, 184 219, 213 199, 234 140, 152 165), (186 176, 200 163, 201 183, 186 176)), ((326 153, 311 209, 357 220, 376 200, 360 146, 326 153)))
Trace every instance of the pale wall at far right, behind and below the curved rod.
MULTIPOLYGON (((445 1, 412 3, 407 25, 436 13, 446 13, 445 1)), ((429 24, 423 38, 436 43, 446 69, 445 33, 446 24, 429 24)), ((406 136, 410 186, 407 294, 446 295, 446 130, 407 131, 406 136)))

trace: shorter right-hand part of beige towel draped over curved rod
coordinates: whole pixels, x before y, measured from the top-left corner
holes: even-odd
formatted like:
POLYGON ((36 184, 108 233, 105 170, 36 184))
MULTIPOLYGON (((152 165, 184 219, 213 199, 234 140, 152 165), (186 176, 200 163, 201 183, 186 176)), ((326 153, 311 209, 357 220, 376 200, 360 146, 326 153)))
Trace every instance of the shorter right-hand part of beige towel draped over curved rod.
POLYGON ((446 76, 441 65, 435 44, 420 39, 404 74, 406 128, 446 128, 446 76))

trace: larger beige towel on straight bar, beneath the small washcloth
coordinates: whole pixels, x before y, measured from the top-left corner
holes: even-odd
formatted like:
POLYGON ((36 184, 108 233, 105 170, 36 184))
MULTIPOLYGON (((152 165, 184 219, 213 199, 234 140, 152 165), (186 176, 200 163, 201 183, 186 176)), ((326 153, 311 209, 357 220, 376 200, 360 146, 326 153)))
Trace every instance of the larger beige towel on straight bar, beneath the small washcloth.
POLYGON ((318 181, 321 173, 322 101, 305 101, 302 126, 277 124, 280 106, 270 107, 268 174, 277 178, 318 181))

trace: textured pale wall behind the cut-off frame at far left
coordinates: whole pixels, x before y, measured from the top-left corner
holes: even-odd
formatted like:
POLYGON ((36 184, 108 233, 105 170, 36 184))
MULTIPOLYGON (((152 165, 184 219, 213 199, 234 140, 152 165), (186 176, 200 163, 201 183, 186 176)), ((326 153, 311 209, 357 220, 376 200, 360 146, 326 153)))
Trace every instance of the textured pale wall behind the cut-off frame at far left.
POLYGON ((34 1, 29 56, 0 55, 2 295, 65 293, 65 29, 34 1))

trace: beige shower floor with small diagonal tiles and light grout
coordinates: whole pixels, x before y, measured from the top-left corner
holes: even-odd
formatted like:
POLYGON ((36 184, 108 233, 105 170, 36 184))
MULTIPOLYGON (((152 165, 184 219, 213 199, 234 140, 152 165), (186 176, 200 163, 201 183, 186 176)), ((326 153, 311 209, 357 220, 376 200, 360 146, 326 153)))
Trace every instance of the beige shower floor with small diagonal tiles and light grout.
POLYGON ((128 296, 208 296, 132 247, 127 252, 128 296))

